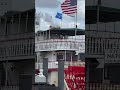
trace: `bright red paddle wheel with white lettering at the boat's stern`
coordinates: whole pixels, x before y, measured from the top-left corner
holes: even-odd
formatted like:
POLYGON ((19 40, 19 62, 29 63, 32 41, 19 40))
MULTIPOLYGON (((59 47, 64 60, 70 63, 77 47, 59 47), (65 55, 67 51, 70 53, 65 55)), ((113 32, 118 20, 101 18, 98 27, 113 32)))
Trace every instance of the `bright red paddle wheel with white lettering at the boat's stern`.
POLYGON ((85 90, 85 67, 68 66, 65 80, 70 90, 85 90))

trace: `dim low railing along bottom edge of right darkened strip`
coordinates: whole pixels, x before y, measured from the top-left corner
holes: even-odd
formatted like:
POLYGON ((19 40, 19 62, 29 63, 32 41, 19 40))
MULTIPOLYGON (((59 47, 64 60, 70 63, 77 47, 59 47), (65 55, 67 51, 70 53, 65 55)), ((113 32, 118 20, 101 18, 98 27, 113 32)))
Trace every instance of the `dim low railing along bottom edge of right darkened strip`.
POLYGON ((114 85, 114 84, 86 84, 86 90, 120 90, 120 85, 114 85))

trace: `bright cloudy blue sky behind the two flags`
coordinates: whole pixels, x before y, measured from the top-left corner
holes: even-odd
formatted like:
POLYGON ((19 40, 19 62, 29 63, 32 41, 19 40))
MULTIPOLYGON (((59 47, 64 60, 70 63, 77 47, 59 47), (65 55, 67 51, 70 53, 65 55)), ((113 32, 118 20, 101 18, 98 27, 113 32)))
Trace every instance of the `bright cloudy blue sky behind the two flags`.
MULTIPOLYGON (((65 0, 35 0, 36 13, 40 15, 40 26, 38 30, 48 30, 50 25, 60 26, 61 28, 74 28, 75 18, 66 14, 62 14, 63 19, 55 18, 57 12, 62 13, 61 4, 65 0), (48 21, 48 17, 52 17, 48 21)), ((77 26, 80 29, 85 29, 85 0, 78 0, 77 2, 77 26)))

